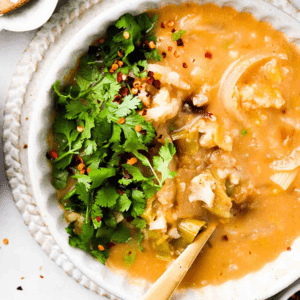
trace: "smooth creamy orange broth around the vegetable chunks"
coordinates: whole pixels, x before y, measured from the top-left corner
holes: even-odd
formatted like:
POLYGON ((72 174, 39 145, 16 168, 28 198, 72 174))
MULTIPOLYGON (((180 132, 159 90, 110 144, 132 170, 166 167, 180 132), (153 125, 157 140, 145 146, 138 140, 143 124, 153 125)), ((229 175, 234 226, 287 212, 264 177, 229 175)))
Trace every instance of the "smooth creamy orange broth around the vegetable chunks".
MULTIPOLYGON (((283 251, 292 251, 290 247, 300 235, 300 193, 297 190, 300 178, 298 176, 284 192, 270 180, 272 170, 269 167, 272 161, 290 154, 300 145, 297 129, 285 122, 291 119, 295 123, 300 119, 300 56, 283 34, 269 24, 258 22, 250 14, 238 13, 232 8, 187 3, 166 6, 152 12, 159 15, 157 48, 160 53, 166 53, 165 59, 159 64, 171 67, 191 85, 191 89, 184 92, 185 97, 198 93, 203 84, 212 87, 208 94, 208 111, 233 136, 231 155, 243 170, 245 178, 254 185, 254 192, 247 199, 246 205, 236 205, 232 219, 219 225, 181 287, 221 284, 259 270, 283 251), (160 24, 173 20, 176 30, 185 29, 181 28, 179 22, 184 17, 187 18, 185 22, 191 23, 182 36, 184 47, 177 47, 172 41, 172 28, 161 28, 160 24), (168 50, 169 46, 172 51, 168 50), (179 57, 174 56, 175 50, 179 57), (283 53, 288 57, 288 60, 277 60, 280 68, 287 72, 280 84, 274 84, 281 90, 286 104, 280 109, 249 111, 252 125, 251 128, 245 128, 220 103, 220 80, 234 60, 251 51, 266 50, 283 53), (212 54, 212 59, 205 57, 207 51, 212 54), (186 63, 187 68, 183 67, 183 63, 186 63), (192 75, 195 67, 201 71, 192 75), (248 132, 243 136, 240 132, 244 129, 248 132)), ((239 84, 253 80, 263 83, 265 78, 256 79, 255 74, 259 73, 259 68, 266 62, 251 68, 239 84)), ((177 125, 184 125, 184 116, 184 113, 179 113, 177 125)), ((202 152, 201 155, 209 153, 202 152)), ((179 168, 192 169, 200 165, 197 155, 199 159, 199 153, 179 158, 179 168)), ((189 181, 190 178, 183 175, 180 180, 189 181)), ((165 271, 168 262, 157 259, 146 242, 144 246, 144 252, 136 249, 136 259, 129 266, 124 263, 124 255, 136 246, 116 245, 111 249, 108 266, 129 273, 133 280, 145 278, 155 281, 165 271)))

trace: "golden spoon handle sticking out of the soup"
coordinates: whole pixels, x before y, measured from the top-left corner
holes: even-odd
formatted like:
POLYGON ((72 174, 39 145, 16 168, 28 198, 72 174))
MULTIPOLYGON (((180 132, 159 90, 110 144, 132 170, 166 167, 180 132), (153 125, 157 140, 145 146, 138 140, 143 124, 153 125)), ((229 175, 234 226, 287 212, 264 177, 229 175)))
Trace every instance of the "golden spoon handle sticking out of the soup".
POLYGON ((195 241, 183 251, 165 273, 152 285, 142 300, 169 300, 199 252, 215 231, 216 226, 215 223, 209 224, 207 229, 196 237, 195 241))

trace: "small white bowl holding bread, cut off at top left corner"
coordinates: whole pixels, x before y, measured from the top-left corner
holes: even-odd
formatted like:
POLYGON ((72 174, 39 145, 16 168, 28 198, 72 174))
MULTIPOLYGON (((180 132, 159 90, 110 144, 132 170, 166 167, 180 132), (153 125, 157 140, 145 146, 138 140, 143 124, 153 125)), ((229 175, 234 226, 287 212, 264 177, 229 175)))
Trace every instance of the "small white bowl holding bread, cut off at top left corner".
POLYGON ((57 2, 58 0, 34 0, 0 16, 0 31, 29 31, 42 26, 53 14, 57 2))

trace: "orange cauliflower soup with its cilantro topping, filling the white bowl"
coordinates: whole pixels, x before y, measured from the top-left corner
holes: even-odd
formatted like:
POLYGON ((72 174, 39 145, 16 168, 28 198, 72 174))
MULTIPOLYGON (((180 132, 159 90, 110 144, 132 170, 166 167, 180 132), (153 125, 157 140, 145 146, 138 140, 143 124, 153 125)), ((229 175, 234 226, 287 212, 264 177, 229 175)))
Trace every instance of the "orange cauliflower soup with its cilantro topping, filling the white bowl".
MULTIPOLYGON (((88 136, 95 143, 85 141, 87 146, 80 144, 76 154, 70 152, 71 148, 65 148, 69 151, 69 160, 64 167, 71 166, 75 170, 75 181, 66 178, 65 173, 67 185, 58 185, 62 188, 59 198, 71 199, 71 202, 63 203, 66 219, 73 224, 68 227, 71 245, 91 252, 101 262, 108 257, 110 268, 123 270, 133 280, 145 278, 154 282, 199 231, 217 220, 217 230, 181 287, 221 284, 257 271, 283 251, 293 251, 293 240, 300 235, 297 222, 300 218, 300 86, 297 85, 300 56, 283 34, 258 22, 250 14, 238 13, 232 8, 185 3, 149 12, 150 16, 155 14, 158 20, 153 35, 157 40, 149 36, 150 41, 136 43, 142 52, 150 49, 150 52, 143 52, 142 59, 138 56, 140 51, 135 53, 134 64, 130 59, 126 61, 123 59, 126 51, 117 48, 119 58, 107 63, 109 68, 99 68, 97 61, 103 59, 100 46, 101 51, 97 51, 102 56, 94 53, 96 67, 91 64, 91 68, 94 68, 93 74, 107 72, 115 76, 118 83, 124 82, 112 104, 117 102, 121 106, 125 102, 122 97, 129 96, 128 90, 131 90, 133 98, 130 101, 137 97, 142 102, 135 105, 135 109, 143 117, 141 122, 145 122, 132 125, 138 138, 145 141, 145 136, 153 134, 149 123, 155 129, 156 137, 153 135, 146 153, 142 147, 130 146, 131 136, 124 131, 125 139, 119 141, 119 146, 129 150, 118 155, 125 163, 115 163, 118 158, 113 153, 119 148, 114 146, 95 164, 93 147, 98 147, 97 151, 106 147, 93 138, 100 135, 95 128, 106 125, 99 125, 98 121, 87 125, 87 120, 80 120, 82 111, 72 115, 75 107, 70 104, 72 101, 68 102, 66 113, 70 119, 78 118, 76 138, 90 126, 88 136), (162 59, 155 61, 158 55, 162 59), (145 57, 147 64, 143 63, 145 57), (133 73, 122 69, 126 64, 133 66, 133 73), (122 95, 124 88, 128 89, 126 95, 122 95), (90 151, 88 158, 87 148, 90 151), (102 163, 108 160, 105 157, 109 157, 109 167, 125 168, 125 171, 122 169, 124 178, 114 177, 116 173, 107 175, 111 170, 108 171, 106 165, 107 185, 98 190, 104 184, 103 181, 99 184, 102 179, 97 176, 101 172, 101 176, 104 174, 102 163), (168 168, 163 168, 165 165, 168 168), (159 188, 147 194, 143 178, 149 176, 159 188), (81 186, 72 189, 76 180, 81 186), (139 180, 143 182, 140 186, 128 188, 139 180), (90 185, 97 189, 95 193, 89 192, 90 185), (112 187, 114 185, 117 187, 112 187), (88 192, 84 190, 86 187, 88 192), (146 202, 141 204, 140 210, 134 203, 138 202, 142 191, 146 193, 143 196, 146 202), (75 195, 77 198, 72 198, 75 195), (124 195, 132 201, 124 199, 124 195), (113 199, 112 204, 106 199, 113 199), (94 208, 97 201, 101 204, 94 208), (84 212, 82 202, 88 207, 87 212, 84 212), (127 210, 126 205, 129 205, 127 210), (91 213, 88 213, 89 207, 91 213), (108 215, 110 220, 105 219, 108 215), (88 229, 90 233, 80 229, 82 224, 89 224, 89 220, 91 225, 88 226, 94 226, 88 229), (111 226, 111 222, 115 225, 111 226), (105 229, 101 229, 102 224, 105 229), (108 231, 110 239, 107 238, 108 231), (112 238, 113 231, 116 235, 112 238), (120 237, 120 232, 125 231, 126 234, 130 231, 131 238, 120 237), (88 237, 90 234, 88 242, 80 239, 82 234, 88 237), (99 240, 92 239, 92 234, 99 240), (141 239, 140 245, 137 241, 141 239), (97 248, 100 252, 96 253, 97 248)), ((130 17, 127 15, 127 18, 130 17)), ((141 17, 136 19, 138 24, 141 24, 138 20, 143 20, 143 24, 149 21, 141 17)), ((117 42, 131 40, 133 23, 128 25, 125 21, 124 18, 123 23, 119 23, 124 30, 115 39, 117 42)), ((148 29, 152 30, 150 27, 148 29)), ((99 42, 105 44, 104 39, 96 45, 99 42)), ((85 76, 82 71, 80 74, 85 76)), ((78 83, 77 78, 80 88, 87 84, 86 88, 92 89, 98 84, 96 77, 91 76, 92 87, 84 81, 78 83)), ((74 82, 72 84, 74 87, 74 82)), ((85 110, 90 95, 79 95, 81 109, 85 110)), ((69 99, 75 101, 77 97, 72 96, 70 89, 59 96, 58 101, 62 103, 69 99)), ((102 100, 98 101, 103 105, 102 100)), ((102 109, 99 108, 99 114, 102 109)), ((57 113, 61 114, 59 110, 57 113)), ((119 117, 115 120, 117 126, 129 124, 128 116, 121 117, 120 114, 119 117)), ((113 117, 111 120, 114 122, 113 117)), ((63 134, 55 128, 54 124, 56 135, 63 134)), ((115 127, 107 139, 112 139, 114 130, 115 127)), ((61 145, 67 147, 60 141, 58 150, 61 145)), ((61 155, 55 153, 52 157, 54 167, 61 155)), ((61 177, 56 175, 54 178, 61 177)), ((147 184, 150 186, 149 182, 147 184)))

